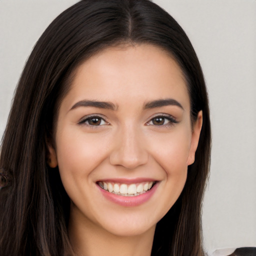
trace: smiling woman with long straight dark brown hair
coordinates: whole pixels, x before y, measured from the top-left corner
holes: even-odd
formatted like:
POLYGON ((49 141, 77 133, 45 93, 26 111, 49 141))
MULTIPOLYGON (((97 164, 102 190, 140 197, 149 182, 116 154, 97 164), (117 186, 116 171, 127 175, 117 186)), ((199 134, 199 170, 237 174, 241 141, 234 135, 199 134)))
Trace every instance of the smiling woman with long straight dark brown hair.
POLYGON ((16 89, 0 255, 203 255, 209 154, 182 28, 148 0, 80 1, 44 31, 16 89))

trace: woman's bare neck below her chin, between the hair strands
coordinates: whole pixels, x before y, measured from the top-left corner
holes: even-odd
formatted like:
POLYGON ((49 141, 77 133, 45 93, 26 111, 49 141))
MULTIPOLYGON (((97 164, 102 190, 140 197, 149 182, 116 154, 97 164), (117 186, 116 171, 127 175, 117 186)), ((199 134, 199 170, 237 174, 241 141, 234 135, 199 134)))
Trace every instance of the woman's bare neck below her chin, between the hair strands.
POLYGON ((69 239, 77 256, 150 256, 155 226, 138 235, 119 236, 70 215, 69 239))

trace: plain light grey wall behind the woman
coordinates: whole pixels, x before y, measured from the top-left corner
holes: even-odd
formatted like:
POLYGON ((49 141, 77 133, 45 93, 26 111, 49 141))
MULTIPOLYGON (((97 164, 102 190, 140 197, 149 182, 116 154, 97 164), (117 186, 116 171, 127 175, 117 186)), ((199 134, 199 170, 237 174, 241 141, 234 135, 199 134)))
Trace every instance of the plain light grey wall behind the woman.
MULTIPOLYGON (((0 0, 0 136, 34 43, 75 2, 0 0)), ((188 34, 208 86, 213 146, 202 215, 204 246, 208 251, 256 246, 256 1, 154 2, 188 34)))

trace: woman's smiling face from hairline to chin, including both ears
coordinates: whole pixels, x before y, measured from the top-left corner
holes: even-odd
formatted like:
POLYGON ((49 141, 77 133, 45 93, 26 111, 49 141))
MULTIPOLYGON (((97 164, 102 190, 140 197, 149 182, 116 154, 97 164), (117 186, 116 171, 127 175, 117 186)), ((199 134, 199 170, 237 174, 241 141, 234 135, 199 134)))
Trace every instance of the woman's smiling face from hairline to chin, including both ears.
POLYGON ((70 218, 116 235, 154 228, 194 159, 202 118, 192 129, 189 105, 179 66, 156 46, 109 47, 84 61, 49 146, 70 218))

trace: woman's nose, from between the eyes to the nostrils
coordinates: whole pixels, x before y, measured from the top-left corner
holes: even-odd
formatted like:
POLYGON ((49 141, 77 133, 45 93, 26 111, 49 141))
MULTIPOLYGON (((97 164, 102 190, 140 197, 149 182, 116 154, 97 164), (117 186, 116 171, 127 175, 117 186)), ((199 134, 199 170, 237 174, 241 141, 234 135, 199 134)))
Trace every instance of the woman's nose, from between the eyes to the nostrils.
POLYGON ((118 131, 110 153, 110 163, 134 169, 148 161, 142 134, 136 127, 126 126, 118 131))

